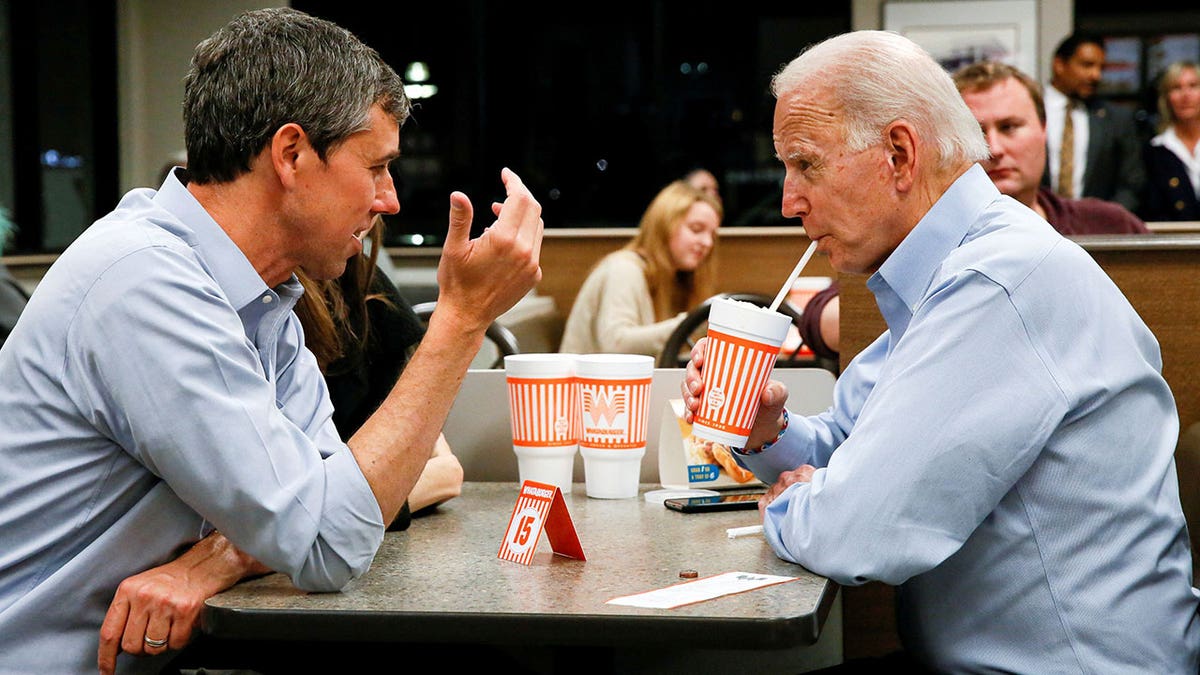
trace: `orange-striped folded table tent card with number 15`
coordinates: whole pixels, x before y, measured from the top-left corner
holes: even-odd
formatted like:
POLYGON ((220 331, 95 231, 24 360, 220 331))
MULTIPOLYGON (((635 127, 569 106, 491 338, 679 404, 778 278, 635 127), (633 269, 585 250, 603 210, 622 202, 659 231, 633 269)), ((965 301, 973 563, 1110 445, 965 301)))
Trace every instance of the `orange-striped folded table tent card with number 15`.
POLYGON ((533 480, 521 484, 521 494, 516 506, 512 507, 512 515, 509 518, 509 526, 497 557, 529 565, 542 530, 546 531, 550 548, 556 554, 587 560, 583 557, 583 546, 580 545, 580 536, 575 532, 575 524, 571 521, 570 512, 566 510, 562 490, 556 485, 533 480))

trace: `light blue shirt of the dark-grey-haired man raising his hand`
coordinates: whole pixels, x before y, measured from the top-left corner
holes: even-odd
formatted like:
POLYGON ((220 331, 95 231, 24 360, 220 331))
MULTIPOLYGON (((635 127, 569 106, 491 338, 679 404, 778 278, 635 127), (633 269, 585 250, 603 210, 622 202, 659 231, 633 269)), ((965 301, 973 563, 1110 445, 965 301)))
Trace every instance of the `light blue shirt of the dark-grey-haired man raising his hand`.
POLYGON ((0 348, 0 673, 95 671, 118 584, 214 527, 301 589, 367 569, 384 524, 300 294, 268 288, 175 175, 49 269, 0 348))

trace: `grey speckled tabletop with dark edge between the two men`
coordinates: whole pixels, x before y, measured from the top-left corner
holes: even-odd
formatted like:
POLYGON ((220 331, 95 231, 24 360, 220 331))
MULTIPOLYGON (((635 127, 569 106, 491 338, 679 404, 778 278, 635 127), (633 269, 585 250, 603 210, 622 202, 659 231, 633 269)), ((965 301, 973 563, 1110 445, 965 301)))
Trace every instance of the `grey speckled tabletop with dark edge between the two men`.
POLYGON ((408 531, 389 533, 371 569, 343 592, 307 593, 268 575, 210 598, 204 631, 275 640, 779 649, 815 643, 836 595, 832 581, 779 560, 762 536, 726 536, 757 524, 755 510, 683 514, 641 495, 588 498, 582 484, 565 497, 586 561, 553 555, 545 534, 532 565, 500 560, 517 492, 516 483, 467 483, 408 531), (680 583, 683 569, 797 580, 676 609, 606 604, 680 583))

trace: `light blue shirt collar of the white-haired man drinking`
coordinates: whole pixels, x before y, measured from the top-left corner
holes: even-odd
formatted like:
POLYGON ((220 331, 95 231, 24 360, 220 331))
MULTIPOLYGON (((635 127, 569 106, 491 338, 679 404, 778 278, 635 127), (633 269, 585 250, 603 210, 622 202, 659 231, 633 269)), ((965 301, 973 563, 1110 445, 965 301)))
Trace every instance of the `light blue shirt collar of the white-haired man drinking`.
POLYGON ((869 285, 886 283, 914 311, 942 261, 962 243, 979 213, 998 198, 1000 190, 988 173, 972 165, 883 261, 869 285))

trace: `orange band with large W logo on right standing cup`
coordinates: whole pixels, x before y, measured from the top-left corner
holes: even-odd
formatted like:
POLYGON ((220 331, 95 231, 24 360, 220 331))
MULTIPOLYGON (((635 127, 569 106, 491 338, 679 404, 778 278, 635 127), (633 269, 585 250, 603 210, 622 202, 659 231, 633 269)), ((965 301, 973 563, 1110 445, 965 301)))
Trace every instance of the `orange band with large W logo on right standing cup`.
POLYGON ((593 380, 580 377, 583 414, 580 446, 599 449, 646 447, 650 408, 650 378, 593 380))

